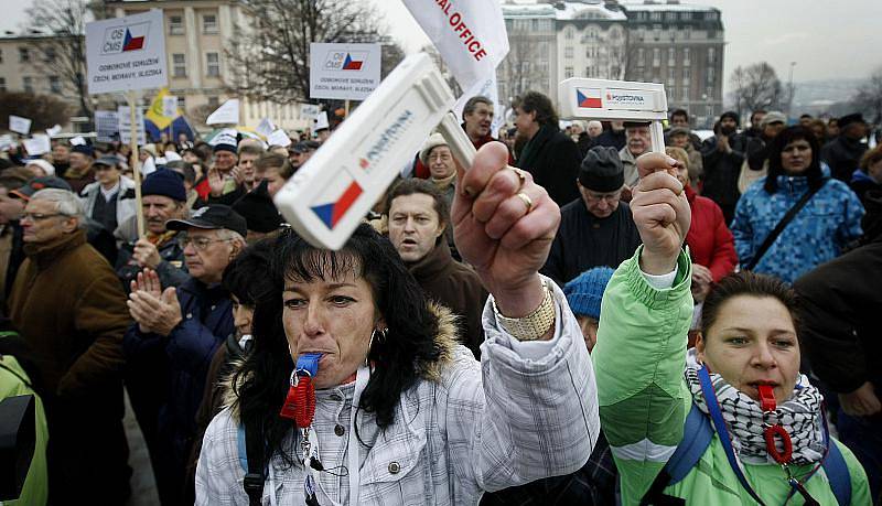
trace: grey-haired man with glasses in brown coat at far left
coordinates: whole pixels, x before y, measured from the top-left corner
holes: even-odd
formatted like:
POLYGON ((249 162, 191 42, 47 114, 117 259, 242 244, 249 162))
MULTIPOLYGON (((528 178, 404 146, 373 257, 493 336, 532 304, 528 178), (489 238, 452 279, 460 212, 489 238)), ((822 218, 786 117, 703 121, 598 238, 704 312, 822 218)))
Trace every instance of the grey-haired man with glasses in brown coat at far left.
POLYGON ((15 191, 28 200, 20 219, 28 258, 12 287, 10 315, 44 388, 50 502, 123 504, 131 469, 121 344, 131 320, 116 273, 86 243, 79 200, 46 187, 56 183, 32 180, 15 191))

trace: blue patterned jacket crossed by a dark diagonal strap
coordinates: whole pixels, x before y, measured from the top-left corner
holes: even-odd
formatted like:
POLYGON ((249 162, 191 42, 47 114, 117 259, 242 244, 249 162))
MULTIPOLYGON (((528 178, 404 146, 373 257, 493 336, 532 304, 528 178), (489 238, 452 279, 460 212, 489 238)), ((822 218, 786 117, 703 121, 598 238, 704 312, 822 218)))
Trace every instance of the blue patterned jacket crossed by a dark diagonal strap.
MULTIPOLYGON (((742 266, 753 260, 766 236, 808 191, 805 176, 779 175, 778 191, 772 195, 763 184, 765 177, 744 192, 730 227, 742 266)), ((828 180, 781 233, 754 272, 777 276, 793 283, 802 274, 838 257, 846 245, 863 235, 863 205, 848 185, 828 180)))

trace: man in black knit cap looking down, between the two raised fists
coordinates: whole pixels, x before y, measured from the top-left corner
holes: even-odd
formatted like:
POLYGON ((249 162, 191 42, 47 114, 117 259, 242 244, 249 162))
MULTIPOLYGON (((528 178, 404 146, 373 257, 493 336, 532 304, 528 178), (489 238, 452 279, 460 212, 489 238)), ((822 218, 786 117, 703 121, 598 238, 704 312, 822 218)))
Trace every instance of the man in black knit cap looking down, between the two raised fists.
POLYGON ((641 245, 631 208, 620 201, 625 176, 615 148, 589 150, 576 184, 582 197, 560 209, 560 228, 541 270, 561 287, 592 267, 619 267, 641 245))

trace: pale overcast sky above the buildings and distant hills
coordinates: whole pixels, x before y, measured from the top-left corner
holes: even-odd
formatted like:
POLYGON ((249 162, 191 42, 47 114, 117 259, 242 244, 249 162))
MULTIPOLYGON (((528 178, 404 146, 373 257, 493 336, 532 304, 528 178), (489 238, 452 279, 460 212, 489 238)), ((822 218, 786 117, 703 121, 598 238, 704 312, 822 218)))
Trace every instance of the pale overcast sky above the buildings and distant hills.
MULTIPOLYGON (((33 0, 0 0, 0 31, 17 29, 33 0)), ((341 0, 348 1, 348 0, 341 0)), ((408 52, 428 42, 401 0, 366 0, 408 52)), ((475 1, 475 0, 473 0, 475 1)), ((722 11, 727 84, 732 69, 768 61, 782 80, 861 78, 882 66, 882 0, 706 0, 722 11)))

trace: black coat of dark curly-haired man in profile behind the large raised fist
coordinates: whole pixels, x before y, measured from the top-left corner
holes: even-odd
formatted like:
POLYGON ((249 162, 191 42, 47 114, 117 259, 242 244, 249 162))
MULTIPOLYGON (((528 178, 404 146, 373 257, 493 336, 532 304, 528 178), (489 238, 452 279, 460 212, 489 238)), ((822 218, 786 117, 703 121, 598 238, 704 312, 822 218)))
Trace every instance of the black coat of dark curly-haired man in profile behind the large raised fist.
POLYGON ((533 136, 517 160, 517 166, 533 174, 536 184, 559 206, 579 197, 576 179, 581 163, 576 142, 550 125, 533 136))

